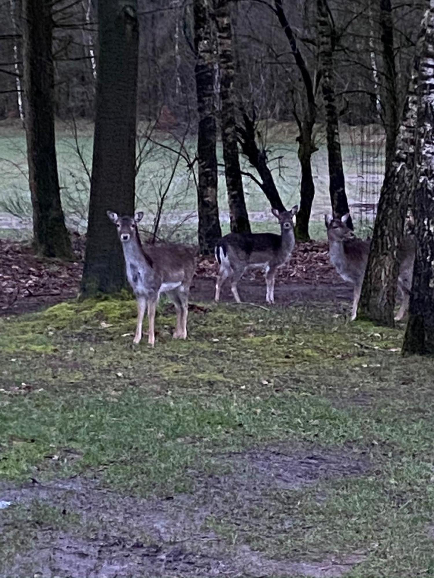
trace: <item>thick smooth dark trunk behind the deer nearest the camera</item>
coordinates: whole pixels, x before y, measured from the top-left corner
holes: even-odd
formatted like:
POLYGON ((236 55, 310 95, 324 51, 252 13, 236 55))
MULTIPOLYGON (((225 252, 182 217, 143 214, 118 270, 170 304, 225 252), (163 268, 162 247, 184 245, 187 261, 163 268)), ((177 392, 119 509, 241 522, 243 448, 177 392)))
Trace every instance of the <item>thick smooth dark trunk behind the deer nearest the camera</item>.
POLYGON ((137 1, 99 0, 98 76, 83 297, 125 286, 122 247, 106 211, 134 212, 137 1))

